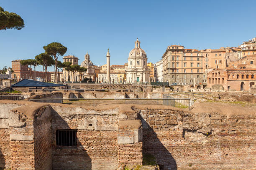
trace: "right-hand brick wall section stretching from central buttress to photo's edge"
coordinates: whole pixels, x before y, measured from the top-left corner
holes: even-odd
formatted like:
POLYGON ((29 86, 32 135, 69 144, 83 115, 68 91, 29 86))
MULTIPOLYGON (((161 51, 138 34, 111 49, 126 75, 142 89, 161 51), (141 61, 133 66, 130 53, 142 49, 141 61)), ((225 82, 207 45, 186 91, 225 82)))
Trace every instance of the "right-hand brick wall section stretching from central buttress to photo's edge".
POLYGON ((141 115, 143 153, 164 169, 256 169, 255 116, 176 112, 177 123, 174 110, 141 115))

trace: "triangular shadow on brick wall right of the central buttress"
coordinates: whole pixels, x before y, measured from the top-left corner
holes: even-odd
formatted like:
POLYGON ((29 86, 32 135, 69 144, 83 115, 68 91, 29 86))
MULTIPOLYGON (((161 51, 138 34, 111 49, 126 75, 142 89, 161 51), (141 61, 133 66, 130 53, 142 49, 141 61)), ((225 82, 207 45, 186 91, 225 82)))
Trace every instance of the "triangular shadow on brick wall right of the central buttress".
MULTIPOLYGON (((141 117, 141 116, 140 116, 141 117)), ((151 154, 155 157, 157 164, 159 165, 160 170, 177 170, 177 164, 172 154, 169 150, 166 149, 157 134, 154 132, 154 129, 148 125, 146 120, 141 117, 141 122, 143 123, 143 155, 151 154)), ((166 137, 167 138, 167 137, 166 137)), ((164 139, 167 140, 167 139, 164 139)))

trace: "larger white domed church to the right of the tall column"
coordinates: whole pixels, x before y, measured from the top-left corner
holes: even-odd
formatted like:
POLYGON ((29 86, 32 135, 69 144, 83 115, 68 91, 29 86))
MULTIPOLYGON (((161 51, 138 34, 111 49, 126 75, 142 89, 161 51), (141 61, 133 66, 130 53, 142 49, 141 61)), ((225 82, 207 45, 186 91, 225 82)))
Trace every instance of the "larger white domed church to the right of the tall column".
POLYGON ((135 41, 135 47, 130 51, 128 67, 126 69, 126 82, 149 82, 148 58, 146 52, 141 49, 141 42, 135 41))

